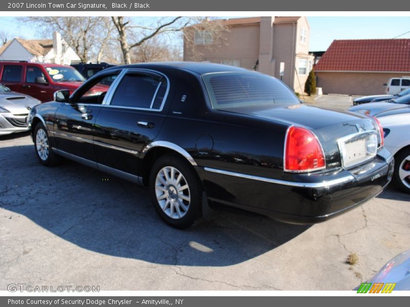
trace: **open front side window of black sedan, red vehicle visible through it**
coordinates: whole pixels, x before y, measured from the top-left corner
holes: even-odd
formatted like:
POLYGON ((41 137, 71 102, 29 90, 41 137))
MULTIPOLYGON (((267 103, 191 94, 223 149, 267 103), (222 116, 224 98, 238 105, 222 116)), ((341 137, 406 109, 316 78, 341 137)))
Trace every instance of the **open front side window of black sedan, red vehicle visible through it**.
POLYGON ((80 93, 75 97, 76 103, 92 103, 101 104, 103 103, 104 97, 106 96, 112 82, 118 76, 118 73, 106 76, 101 76, 93 80, 87 87, 83 87, 80 93))

